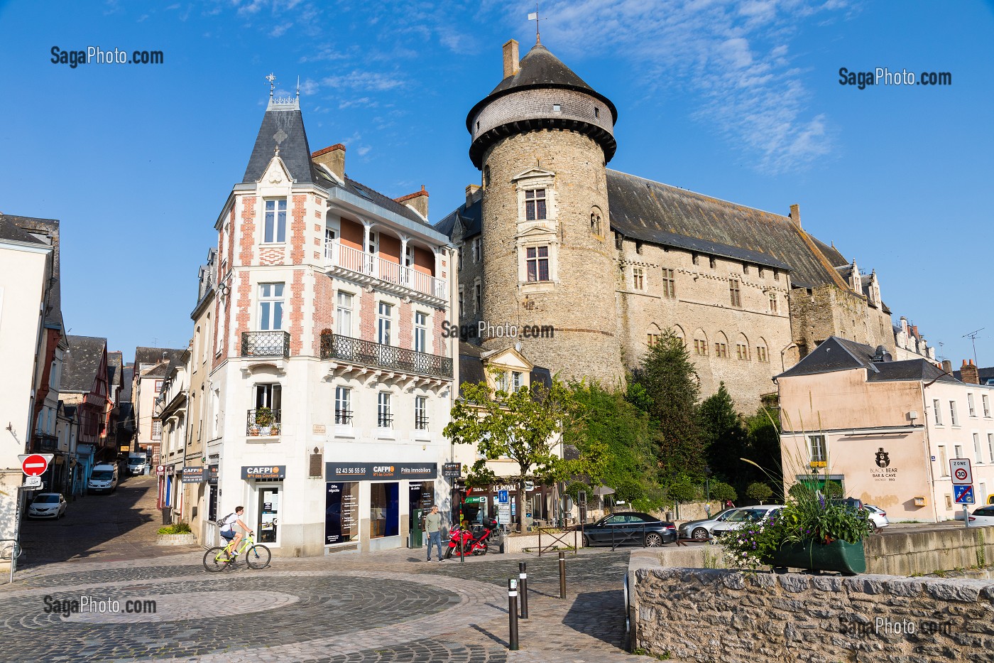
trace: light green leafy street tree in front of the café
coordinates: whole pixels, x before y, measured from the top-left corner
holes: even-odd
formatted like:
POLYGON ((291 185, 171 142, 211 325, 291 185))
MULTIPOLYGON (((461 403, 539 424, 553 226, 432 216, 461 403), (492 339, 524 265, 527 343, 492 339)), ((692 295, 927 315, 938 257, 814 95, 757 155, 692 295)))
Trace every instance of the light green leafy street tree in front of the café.
POLYGON ((517 391, 493 390, 485 382, 462 385, 462 398, 452 406, 442 434, 455 444, 475 444, 481 456, 469 471, 471 485, 490 485, 497 476, 487 461, 508 458, 518 465, 510 477, 518 486, 515 495, 518 531, 525 513, 525 480, 552 483, 575 474, 598 474, 603 454, 596 444, 583 447, 580 457, 565 461, 554 452, 564 427, 573 429, 582 407, 572 390, 559 379, 546 387, 533 383, 517 391))

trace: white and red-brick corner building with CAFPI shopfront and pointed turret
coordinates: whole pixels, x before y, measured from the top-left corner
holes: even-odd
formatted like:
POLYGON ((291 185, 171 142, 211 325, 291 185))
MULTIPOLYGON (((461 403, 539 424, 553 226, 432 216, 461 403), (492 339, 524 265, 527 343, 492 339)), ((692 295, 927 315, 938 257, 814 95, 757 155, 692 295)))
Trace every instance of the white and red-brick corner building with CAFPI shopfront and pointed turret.
POLYGON ((245 506, 274 554, 401 548, 448 494, 454 275, 427 198, 351 179, 345 146, 312 153, 298 100, 270 97, 215 226, 201 473, 211 515, 245 506))

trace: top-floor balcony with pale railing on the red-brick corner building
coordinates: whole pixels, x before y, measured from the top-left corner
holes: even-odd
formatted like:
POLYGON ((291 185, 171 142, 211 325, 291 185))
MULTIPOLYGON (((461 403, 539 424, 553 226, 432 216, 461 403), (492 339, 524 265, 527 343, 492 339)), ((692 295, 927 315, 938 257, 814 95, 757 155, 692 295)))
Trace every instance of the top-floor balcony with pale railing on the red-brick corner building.
POLYGON ((364 283, 377 282, 387 290, 411 294, 433 303, 448 299, 444 279, 418 272, 414 267, 385 260, 361 249, 345 246, 338 240, 325 240, 324 262, 332 273, 358 278, 364 283))

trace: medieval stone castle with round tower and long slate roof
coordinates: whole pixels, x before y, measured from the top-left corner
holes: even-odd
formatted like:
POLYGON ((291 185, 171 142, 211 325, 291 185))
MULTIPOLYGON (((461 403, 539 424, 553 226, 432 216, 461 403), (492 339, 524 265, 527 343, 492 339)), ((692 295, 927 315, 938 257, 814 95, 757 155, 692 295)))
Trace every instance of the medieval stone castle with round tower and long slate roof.
MULTIPOLYGON (((480 185, 435 224, 460 248, 460 326, 552 327, 478 339, 566 378, 618 384, 672 328, 702 393, 750 411, 830 335, 894 351, 876 273, 788 216, 607 168, 614 105, 541 44, 466 117, 480 185)), ((497 329, 504 329, 498 327, 497 329)))

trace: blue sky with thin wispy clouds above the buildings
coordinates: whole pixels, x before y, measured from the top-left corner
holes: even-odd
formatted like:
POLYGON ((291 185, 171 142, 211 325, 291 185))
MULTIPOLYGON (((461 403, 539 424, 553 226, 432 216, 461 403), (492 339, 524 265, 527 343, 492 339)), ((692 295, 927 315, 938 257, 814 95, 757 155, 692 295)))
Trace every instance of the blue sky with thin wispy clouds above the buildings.
MULTIPOLYGON (((185 346, 197 267, 268 96, 301 81, 312 149, 430 218, 479 181, 466 112, 535 42, 528 2, 0 0, 0 211, 62 221, 73 333, 185 346), (162 65, 51 62, 161 50, 162 65)), ((876 269, 885 302, 957 366, 994 364, 991 2, 557 0, 542 42, 618 108, 610 166, 786 214, 876 269), (839 69, 950 72, 856 87, 839 69)))

